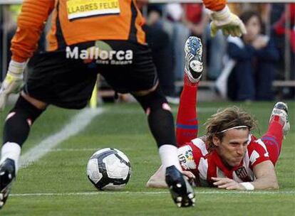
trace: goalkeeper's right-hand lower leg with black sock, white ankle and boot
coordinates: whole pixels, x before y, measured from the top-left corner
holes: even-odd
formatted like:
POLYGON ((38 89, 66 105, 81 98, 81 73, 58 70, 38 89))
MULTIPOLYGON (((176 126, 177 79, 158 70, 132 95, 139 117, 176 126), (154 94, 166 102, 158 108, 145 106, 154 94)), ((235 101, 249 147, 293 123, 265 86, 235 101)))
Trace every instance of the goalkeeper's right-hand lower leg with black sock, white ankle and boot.
POLYGON ((160 87, 148 95, 134 95, 148 115, 150 131, 157 141, 162 166, 166 170, 165 180, 172 199, 179 207, 195 204, 194 190, 180 172, 180 162, 175 139, 175 129, 170 106, 160 91, 160 87))

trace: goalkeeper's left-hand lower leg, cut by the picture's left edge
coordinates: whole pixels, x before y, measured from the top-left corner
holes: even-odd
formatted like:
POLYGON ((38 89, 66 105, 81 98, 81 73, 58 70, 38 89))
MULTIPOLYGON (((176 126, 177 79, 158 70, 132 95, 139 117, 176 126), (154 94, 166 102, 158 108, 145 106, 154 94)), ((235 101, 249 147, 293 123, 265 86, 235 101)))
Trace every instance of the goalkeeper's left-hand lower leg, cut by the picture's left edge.
POLYGON ((29 136, 31 124, 43 110, 20 96, 6 117, 0 161, 0 209, 4 206, 16 177, 21 146, 29 136))

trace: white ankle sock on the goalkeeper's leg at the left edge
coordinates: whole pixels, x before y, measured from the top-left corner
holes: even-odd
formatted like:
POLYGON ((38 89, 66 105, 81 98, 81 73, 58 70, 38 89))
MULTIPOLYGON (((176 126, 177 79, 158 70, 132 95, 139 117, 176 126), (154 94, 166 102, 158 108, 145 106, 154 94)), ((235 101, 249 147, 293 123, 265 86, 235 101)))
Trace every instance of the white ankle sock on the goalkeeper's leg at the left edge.
POLYGON ((2 164, 6 158, 10 158, 14 160, 14 164, 16 166, 16 171, 18 170, 19 157, 21 156, 21 146, 16 143, 6 142, 1 148, 1 161, 2 164))

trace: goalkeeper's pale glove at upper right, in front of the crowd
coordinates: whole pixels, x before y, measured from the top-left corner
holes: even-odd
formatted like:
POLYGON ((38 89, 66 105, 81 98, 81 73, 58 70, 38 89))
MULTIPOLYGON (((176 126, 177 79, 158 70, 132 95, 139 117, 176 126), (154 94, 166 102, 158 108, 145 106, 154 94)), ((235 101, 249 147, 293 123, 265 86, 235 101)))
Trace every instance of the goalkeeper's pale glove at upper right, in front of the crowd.
POLYGON ((221 11, 213 11, 210 14, 212 22, 210 23, 211 36, 214 37, 220 29, 224 36, 240 37, 247 33, 244 23, 241 19, 229 11, 228 6, 225 6, 221 11))

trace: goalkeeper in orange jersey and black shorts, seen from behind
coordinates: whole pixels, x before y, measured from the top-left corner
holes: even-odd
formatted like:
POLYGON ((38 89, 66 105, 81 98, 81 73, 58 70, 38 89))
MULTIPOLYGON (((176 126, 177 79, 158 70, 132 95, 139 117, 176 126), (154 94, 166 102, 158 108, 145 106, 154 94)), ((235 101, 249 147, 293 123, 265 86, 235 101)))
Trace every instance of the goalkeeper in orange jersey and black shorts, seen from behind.
MULTIPOLYGON (((244 26, 224 0, 204 1, 212 12, 212 36, 221 29, 240 36, 244 26)), ((117 92, 130 92, 148 115, 152 135, 167 168, 167 184, 178 206, 192 206, 195 195, 180 173, 173 117, 158 87, 143 16, 133 0, 25 0, 11 41, 11 62, 0 89, 0 109, 21 91, 4 124, 0 161, 0 208, 8 198, 21 146, 31 124, 48 104, 82 109, 90 99, 98 71, 117 92), (44 23, 52 13, 48 50, 36 53, 44 23), (21 89, 27 60, 33 61, 21 89), (159 122, 158 119, 161 119, 159 122)))

